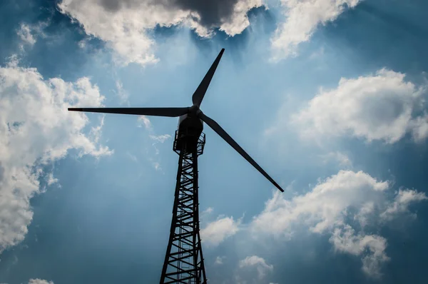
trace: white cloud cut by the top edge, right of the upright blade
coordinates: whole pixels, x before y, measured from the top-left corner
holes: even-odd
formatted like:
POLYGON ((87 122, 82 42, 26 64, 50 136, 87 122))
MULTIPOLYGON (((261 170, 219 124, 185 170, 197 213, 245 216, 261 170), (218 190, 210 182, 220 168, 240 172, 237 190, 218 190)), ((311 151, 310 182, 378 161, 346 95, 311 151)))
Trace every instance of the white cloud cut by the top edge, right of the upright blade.
POLYGON ((297 54, 297 46, 309 41, 320 24, 335 21, 346 7, 361 0, 281 0, 285 22, 278 25, 272 38, 273 59, 297 54))

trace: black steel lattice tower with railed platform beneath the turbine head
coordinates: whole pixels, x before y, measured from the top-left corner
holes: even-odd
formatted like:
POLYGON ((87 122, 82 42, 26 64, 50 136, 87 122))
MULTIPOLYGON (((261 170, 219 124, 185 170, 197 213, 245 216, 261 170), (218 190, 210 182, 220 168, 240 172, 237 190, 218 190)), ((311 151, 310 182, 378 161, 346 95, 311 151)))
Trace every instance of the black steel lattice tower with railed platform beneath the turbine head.
POLYGON ((199 235, 198 203, 198 156, 203 154, 204 146, 204 133, 191 137, 188 133, 175 131, 173 149, 180 158, 161 284, 207 282, 199 235))

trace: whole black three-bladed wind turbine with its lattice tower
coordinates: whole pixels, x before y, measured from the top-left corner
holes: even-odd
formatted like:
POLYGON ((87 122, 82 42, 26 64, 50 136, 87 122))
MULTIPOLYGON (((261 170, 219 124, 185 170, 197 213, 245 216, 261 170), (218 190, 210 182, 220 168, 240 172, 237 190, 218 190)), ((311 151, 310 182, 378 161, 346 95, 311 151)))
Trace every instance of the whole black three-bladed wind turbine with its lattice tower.
POLYGON ((175 185, 173 220, 163 263, 161 284, 203 284, 207 282, 200 244, 198 203, 198 156, 202 155, 205 146, 205 134, 202 132, 204 122, 283 192, 282 188, 217 122, 200 110, 200 103, 203 101, 224 51, 225 49, 220 51, 213 65, 193 93, 193 106, 186 108, 68 108, 68 111, 179 117, 173 144, 173 150, 179 155, 177 183, 175 185))

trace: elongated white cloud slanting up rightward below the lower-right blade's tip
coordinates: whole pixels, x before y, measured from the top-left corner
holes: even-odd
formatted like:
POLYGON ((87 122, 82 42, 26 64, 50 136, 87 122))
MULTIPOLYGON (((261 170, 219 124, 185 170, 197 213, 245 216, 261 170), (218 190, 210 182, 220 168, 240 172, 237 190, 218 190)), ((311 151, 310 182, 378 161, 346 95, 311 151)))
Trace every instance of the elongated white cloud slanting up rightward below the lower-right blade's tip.
POLYGON ((253 229, 272 232, 278 237, 297 220, 304 221, 313 232, 323 233, 344 222, 345 210, 360 208, 367 200, 377 200, 389 188, 387 181, 377 181, 359 171, 339 171, 302 196, 291 201, 275 193, 265 210, 253 220, 253 229))

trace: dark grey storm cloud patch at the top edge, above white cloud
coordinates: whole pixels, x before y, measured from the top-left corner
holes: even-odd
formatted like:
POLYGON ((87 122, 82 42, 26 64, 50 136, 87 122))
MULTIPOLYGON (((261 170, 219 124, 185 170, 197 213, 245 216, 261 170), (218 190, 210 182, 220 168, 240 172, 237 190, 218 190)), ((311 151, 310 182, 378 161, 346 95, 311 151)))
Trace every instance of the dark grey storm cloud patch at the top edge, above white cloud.
POLYGON ((132 8, 141 4, 165 6, 166 9, 182 9, 199 14, 200 24, 206 27, 219 26, 222 19, 230 19, 233 7, 239 0, 98 0, 108 11, 121 7, 132 8))

